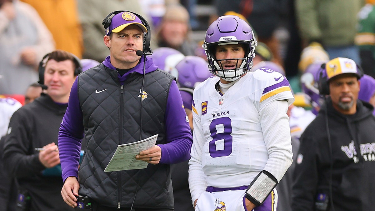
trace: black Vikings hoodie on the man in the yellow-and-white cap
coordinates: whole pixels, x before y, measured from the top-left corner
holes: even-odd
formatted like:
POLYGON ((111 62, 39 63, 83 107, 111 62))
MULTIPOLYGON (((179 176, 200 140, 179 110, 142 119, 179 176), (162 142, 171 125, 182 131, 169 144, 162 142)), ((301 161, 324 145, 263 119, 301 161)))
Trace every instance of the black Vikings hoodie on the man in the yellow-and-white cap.
POLYGON ((319 210, 329 201, 330 177, 335 211, 374 210, 374 108, 360 100, 354 115, 343 115, 327 99, 301 136, 293 184, 293 211, 319 210), (328 124, 328 128, 326 128, 328 124), (332 150, 331 150, 332 149, 332 150), (332 165, 332 171, 330 170, 332 165))

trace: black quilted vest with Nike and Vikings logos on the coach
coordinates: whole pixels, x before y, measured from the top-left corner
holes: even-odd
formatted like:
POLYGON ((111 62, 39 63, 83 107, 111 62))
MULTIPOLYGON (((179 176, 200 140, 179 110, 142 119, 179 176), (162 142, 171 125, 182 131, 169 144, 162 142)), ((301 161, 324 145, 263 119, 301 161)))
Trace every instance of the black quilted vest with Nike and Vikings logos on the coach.
MULTIPOLYGON (((168 164, 104 172, 117 145, 139 140, 142 78, 143 75, 133 72, 121 86, 117 72, 103 64, 78 76, 85 128, 83 143, 87 143, 79 170, 79 193, 116 208, 118 203, 130 207, 134 197, 133 207, 173 208, 168 164)), ((147 98, 142 101, 142 139, 159 134, 156 144, 166 143, 164 116, 173 80, 159 69, 145 74, 143 91, 147 98)))

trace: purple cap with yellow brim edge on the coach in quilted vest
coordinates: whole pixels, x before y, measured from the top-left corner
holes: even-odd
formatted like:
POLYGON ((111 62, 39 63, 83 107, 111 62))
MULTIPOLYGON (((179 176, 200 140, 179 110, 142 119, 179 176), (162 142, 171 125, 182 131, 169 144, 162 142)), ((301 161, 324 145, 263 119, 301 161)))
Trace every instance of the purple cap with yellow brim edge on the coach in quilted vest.
POLYGON ((131 12, 121 12, 111 18, 111 25, 110 27, 105 29, 105 34, 110 35, 111 32, 121 32, 123 29, 125 29, 125 27, 131 24, 139 26, 139 28, 141 28, 144 33, 147 32, 147 29, 142 24, 141 19, 139 19, 136 15, 131 12))

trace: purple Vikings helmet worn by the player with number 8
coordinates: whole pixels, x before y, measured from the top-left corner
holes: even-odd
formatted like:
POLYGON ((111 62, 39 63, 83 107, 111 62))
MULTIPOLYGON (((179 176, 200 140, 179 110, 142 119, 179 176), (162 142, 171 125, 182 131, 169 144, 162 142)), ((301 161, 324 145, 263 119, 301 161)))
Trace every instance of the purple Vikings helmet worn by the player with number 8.
POLYGON ((257 46, 257 41, 249 24, 235 15, 224 15, 208 27, 202 48, 207 55, 210 72, 226 81, 234 81, 253 67, 255 46, 257 46), (233 59, 216 59, 215 57, 216 47, 228 44, 244 45, 245 57, 236 58, 237 63, 243 61, 239 68, 236 65, 233 69, 222 69, 223 61, 233 59))

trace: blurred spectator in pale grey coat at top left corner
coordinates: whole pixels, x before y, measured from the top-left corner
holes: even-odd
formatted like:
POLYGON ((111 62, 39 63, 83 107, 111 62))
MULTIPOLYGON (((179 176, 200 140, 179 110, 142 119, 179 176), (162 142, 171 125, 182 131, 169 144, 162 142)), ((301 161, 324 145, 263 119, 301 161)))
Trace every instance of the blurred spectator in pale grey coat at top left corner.
POLYGON ((24 95, 37 81, 40 59, 52 50, 52 35, 33 7, 0 1, 0 93, 24 95))

